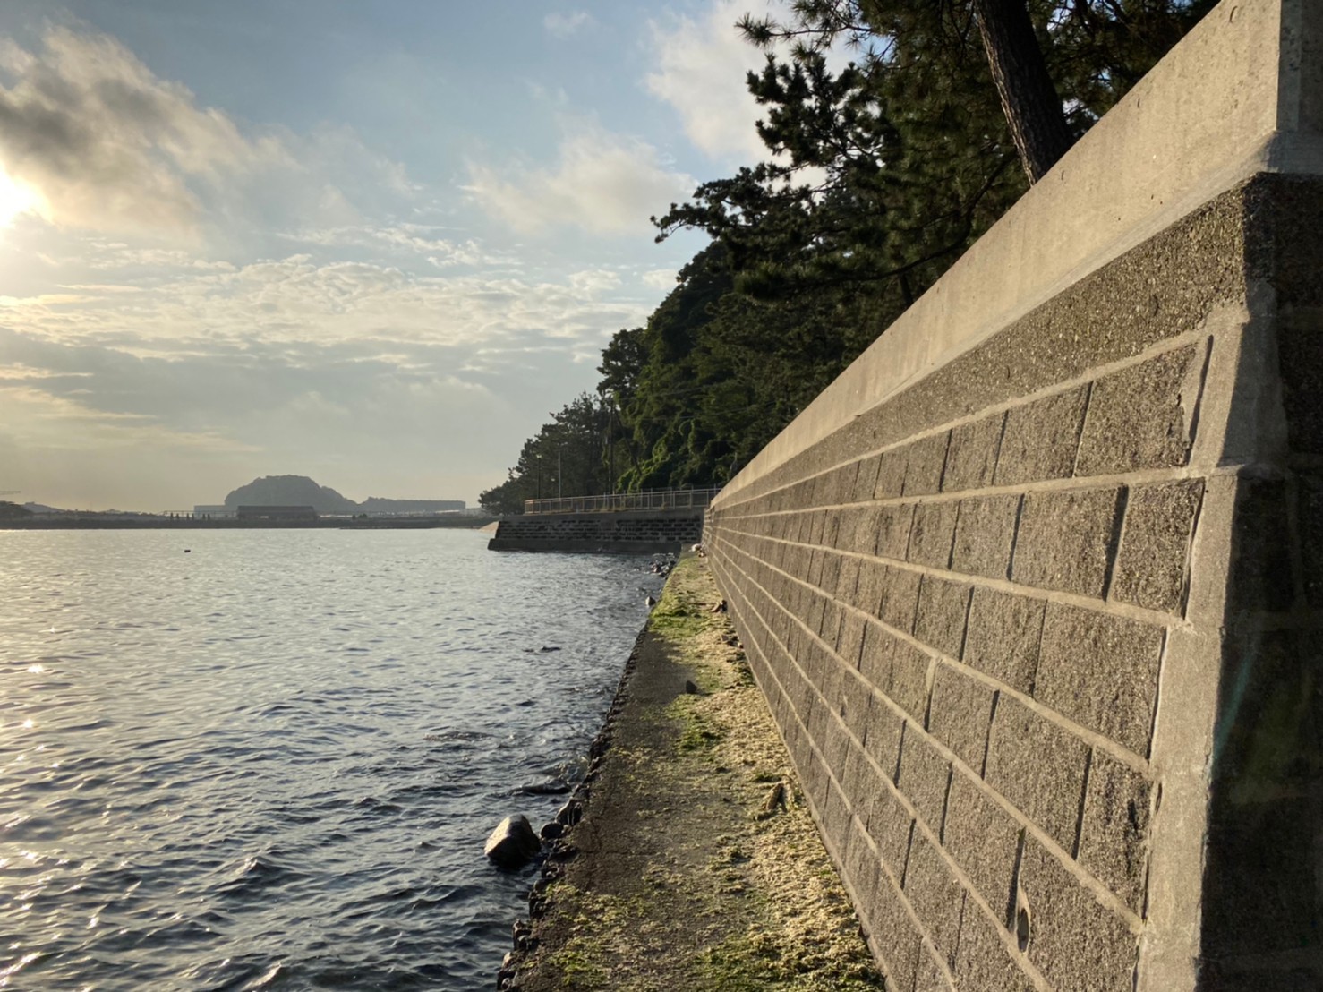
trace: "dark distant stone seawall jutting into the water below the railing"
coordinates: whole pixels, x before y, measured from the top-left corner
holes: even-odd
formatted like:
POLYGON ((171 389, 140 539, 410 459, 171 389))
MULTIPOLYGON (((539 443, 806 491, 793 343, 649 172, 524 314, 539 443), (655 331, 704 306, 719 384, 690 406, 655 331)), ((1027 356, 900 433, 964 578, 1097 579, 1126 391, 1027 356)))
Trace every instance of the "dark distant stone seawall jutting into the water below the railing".
POLYGON ((703 537, 703 508, 505 517, 487 542, 496 552, 679 552, 703 537))

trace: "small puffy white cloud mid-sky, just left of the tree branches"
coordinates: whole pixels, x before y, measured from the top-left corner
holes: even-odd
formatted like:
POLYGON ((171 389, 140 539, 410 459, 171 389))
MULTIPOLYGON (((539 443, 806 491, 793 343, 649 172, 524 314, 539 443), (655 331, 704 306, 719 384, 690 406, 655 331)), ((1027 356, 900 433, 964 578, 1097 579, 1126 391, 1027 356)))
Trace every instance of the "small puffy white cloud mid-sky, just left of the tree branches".
POLYGON ((507 179, 472 164, 468 175, 472 197, 525 234, 569 226, 642 234, 651 229, 648 217, 696 185, 668 169, 652 145, 597 126, 581 126, 561 142, 554 169, 527 168, 507 179))

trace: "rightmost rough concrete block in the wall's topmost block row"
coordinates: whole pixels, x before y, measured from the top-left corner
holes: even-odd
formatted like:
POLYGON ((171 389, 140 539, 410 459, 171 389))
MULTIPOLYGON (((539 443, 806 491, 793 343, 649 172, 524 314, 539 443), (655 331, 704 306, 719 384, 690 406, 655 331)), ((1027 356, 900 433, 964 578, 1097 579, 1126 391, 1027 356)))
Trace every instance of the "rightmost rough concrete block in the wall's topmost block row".
POLYGON ((1076 475, 1185 464, 1201 377, 1203 348, 1187 345, 1094 382, 1076 475))

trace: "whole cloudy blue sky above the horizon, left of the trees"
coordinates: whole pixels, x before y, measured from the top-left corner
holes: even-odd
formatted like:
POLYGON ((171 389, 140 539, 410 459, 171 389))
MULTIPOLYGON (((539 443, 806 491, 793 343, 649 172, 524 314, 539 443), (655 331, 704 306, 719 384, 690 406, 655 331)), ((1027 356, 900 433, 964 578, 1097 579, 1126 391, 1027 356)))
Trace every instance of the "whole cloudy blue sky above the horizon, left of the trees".
POLYGON ((761 153, 765 0, 0 4, 0 489, 464 499, 761 153))

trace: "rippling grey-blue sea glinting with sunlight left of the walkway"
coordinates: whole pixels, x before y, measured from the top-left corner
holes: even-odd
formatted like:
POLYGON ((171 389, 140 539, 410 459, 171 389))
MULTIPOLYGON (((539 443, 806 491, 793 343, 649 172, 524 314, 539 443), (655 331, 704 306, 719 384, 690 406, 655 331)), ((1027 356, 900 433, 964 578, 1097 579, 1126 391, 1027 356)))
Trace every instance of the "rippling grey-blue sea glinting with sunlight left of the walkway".
POLYGON ((486 546, 0 530, 0 988, 491 988, 659 581, 486 546))

